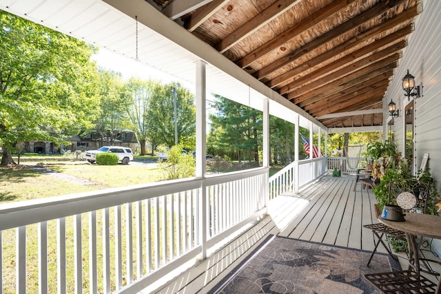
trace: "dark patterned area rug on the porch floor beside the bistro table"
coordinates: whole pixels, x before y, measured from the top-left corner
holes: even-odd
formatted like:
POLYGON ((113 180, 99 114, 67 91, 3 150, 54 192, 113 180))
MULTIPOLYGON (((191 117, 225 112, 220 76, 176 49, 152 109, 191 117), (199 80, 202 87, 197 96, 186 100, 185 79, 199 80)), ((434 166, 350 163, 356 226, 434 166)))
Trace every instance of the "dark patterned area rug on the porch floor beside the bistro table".
POLYGON ((209 293, 378 293, 365 273, 399 270, 389 255, 274 235, 209 293))

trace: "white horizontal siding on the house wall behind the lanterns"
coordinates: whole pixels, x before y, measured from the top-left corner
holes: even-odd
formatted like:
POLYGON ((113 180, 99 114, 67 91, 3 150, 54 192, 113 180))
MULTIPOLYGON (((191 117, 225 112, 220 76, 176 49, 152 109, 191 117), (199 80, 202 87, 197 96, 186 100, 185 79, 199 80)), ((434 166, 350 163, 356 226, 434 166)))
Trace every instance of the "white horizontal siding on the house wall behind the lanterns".
MULTIPOLYGON (((393 101, 399 105, 400 117, 393 127, 396 144, 403 151, 404 112, 402 77, 409 69, 415 76, 416 85, 423 84, 421 98, 415 100, 415 139, 416 166, 420 165, 424 153, 429 153, 427 167, 435 178, 438 191, 441 189, 441 1, 422 1, 422 13, 415 23, 415 31, 409 36, 409 45, 404 50, 400 65, 384 97, 384 109, 393 101)), ((387 114, 386 114, 387 116, 387 114)), ((384 120, 385 121, 385 120, 384 120)), ((404 152, 403 152, 404 154, 404 152)), ((441 242, 436 240, 435 247, 441 252, 441 242)))

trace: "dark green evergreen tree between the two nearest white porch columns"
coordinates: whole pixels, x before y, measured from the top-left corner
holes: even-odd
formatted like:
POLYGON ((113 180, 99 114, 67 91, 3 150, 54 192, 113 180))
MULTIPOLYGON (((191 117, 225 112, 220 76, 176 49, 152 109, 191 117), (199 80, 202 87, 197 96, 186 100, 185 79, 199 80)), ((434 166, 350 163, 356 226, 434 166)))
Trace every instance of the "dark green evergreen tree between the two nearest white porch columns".
POLYGON ((239 161, 248 157, 259 162, 262 112, 222 96, 215 97, 218 111, 209 116, 213 133, 207 143, 209 148, 222 150, 220 155, 239 161))

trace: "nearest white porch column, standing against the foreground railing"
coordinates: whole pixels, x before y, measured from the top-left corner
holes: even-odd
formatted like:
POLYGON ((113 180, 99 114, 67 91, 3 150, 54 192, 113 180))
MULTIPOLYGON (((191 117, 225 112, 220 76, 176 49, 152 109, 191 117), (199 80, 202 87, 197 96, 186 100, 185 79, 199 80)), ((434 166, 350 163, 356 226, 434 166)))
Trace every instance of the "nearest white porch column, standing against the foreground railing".
MULTIPOLYGON (((204 178, 207 171, 205 160, 206 147, 206 116, 205 116, 205 65, 204 61, 197 61, 196 65, 196 177, 204 178)), ((204 181, 200 191, 201 206, 199 207, 198 227, 200 230, 201 260, 207 258, 207 191, 204 181)))

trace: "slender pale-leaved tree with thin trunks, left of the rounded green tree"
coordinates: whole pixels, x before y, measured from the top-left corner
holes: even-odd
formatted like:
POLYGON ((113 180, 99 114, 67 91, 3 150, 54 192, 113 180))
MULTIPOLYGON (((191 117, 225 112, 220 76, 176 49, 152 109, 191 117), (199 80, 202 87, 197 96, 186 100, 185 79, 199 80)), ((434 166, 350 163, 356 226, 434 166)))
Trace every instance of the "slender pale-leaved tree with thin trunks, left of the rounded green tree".
POLYGON ((150 98, 155 92, 161 91, 161 85, 154 81, 141 81, 137 78, 131 78, 125 84, 124 89, 125 97, 127 101, 130 101, 130 105, 127 107, 130 129, 135 132, 136 138, 141 145, 141 155, 145 155, 145 143, 149 138, 154 143, 156 138, 154 133, 152 133, 153 136, 149 136, 148 113, 150 98))

